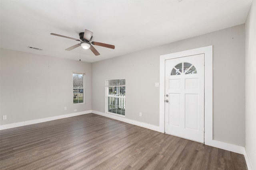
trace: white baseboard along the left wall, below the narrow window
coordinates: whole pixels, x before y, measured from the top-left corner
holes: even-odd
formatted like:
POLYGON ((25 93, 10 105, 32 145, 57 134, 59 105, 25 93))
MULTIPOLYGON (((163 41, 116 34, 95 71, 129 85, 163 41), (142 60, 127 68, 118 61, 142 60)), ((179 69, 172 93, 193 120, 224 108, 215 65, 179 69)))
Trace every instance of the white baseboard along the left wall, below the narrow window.
POLYGON ((70 114, 65 114, 65 115, 58 115, 58 116, 53 116, 53 117, 46 117, 46 118, 42 118, 42 119, 22 121, 22 122, 17 122, 17 123, 10 123, 10 124, 6 124, 6 125, 0 125, 0 130, 10 129, 10 128, 14 128, 14 127, 20 127, 20 126, 26 126, 26 125, 32 125, 32 124, 36 124, 36 123, 42 123, 42 122, 46 122, 46 121, 63 119, 63 118, 73 117, 73 116, 78 116, 78 115, 84 115, 84 114, 88 114, 88 113, 92 113, 92 110, 70 113, 70 114))

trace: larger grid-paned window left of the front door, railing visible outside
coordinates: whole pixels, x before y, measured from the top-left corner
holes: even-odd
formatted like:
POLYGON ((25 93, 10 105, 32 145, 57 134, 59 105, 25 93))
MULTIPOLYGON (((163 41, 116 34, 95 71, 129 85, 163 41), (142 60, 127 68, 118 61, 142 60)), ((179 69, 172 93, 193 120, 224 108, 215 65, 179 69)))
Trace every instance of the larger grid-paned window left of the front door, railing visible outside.
POLYGON ((108 113, 125 115, 125 79, 106 80, 108 113))

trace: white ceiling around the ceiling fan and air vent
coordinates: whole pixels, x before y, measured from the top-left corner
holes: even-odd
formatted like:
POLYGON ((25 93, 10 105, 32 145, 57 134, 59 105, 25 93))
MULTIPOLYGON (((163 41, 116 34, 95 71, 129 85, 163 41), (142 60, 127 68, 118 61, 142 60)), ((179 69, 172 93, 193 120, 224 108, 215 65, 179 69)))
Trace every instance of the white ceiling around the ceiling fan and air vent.
POLYGON ((252 0, 0 0, 0 47, 93 63, 245 23, 252 0), (92 41, 78 47, 84 29, 92 41), (43 49, 38 51, 28 46, 43 49))

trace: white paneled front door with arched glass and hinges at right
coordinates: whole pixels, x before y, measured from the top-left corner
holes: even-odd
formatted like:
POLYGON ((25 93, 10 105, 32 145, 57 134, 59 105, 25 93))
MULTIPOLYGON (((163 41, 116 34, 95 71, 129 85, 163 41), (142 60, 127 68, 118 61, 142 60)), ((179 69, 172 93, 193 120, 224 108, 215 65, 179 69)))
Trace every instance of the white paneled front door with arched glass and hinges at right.
POLYGON ((204 54, 165 61, 165 133, 204 143, 204 54))

